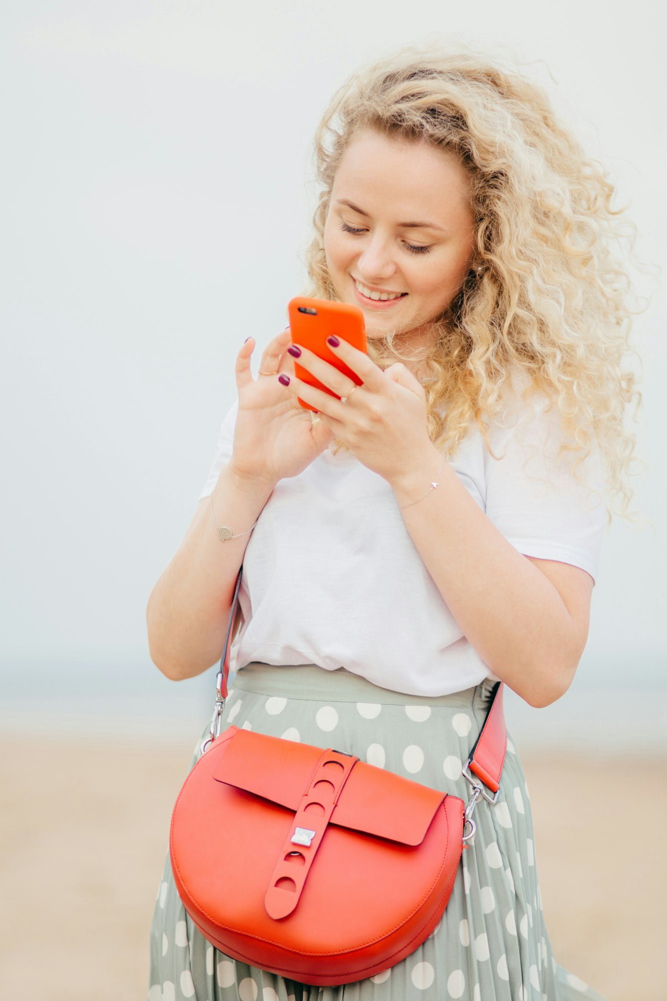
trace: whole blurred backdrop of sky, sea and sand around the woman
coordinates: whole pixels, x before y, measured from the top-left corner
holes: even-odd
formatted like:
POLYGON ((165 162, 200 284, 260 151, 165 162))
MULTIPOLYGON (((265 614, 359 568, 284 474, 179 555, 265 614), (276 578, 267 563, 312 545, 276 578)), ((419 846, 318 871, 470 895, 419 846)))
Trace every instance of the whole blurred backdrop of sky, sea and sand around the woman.
MULTIPOLYGON (((236 351, 257 339, 256 374, 305 281, 310 143, 332 92, 403 42, 518 60, 630 204, 638 257, 662 267, 666 80, 649 13, 3 5, 2 996, 145 996, 170 811, 214 690, 214 670, 173 683, 151 663, 146 603, 206 480, 236 351)), ((651 839, 667 821, 666 307, 653 277, 633 278, 650 297, 629 420, 646 523, 605 537, 567 695, 535 710, 507 692, 552 944, 610 1001, 665 997, 651 839)))

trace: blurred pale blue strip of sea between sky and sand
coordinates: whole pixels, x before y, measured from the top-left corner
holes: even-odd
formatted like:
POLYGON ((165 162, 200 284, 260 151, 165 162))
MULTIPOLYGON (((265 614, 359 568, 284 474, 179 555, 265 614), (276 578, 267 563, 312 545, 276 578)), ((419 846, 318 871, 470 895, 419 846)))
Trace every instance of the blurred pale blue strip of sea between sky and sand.
MULTIPOLYGON (((568 692, 539 709, 506 686, 508 730, 522 751, 667 754, 664 667, 580 666, 568 692)), ((214 666, 197 678, 172 682, 145 663, 0 665, 0 733, 194 744, 210 720, 215 673, 214 666)), ((233 679, 231 672, 229 685, 233 679)))

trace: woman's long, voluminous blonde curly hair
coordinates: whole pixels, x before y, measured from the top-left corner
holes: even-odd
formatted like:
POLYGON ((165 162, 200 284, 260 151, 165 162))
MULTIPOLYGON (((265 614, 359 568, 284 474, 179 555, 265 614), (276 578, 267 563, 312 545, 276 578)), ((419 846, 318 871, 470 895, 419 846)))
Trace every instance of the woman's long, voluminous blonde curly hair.
MULTIPOLYGON (((623 502, 620 512, 607 503, 607 526, 612 514, 629 518, 623 473, 636 434, 624 416, 633 399, 636 416, 642 393, 624 359, 637 355, 628 335, 642 309, 630 307, 631 282, 615 247, 627 237, 632 250, 636 226, 617 221, 625 208, 612 207, 607 172, 584 154, 546 91, 519 72, 466 45, 401 46, 353 73, 316 129, 320 190, 304 295, 339 298, 324 223, 341 158, 364 128, 450 150, 471 178, 475 266, 432 320, 435 336, 422 355, 432 440, 452 456, 475 421, 491 449, 487 421, 498 418, 503 388, 518 373, 526 402, 542 393, 548 408, 557 404, 565 432, 559 455, 580 455, 575 476, 597 443, 608 495, 623 502)), ((394 331, 369 338, 383 368, 408 357, 394 339, 394 331)))

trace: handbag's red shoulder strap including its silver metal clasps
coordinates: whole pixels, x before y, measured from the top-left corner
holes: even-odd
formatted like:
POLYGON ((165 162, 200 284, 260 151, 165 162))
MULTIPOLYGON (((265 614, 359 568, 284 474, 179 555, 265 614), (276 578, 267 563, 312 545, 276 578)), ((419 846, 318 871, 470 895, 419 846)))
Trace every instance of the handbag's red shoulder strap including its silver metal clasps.
MULTIPOLYGON (((234 634, 234 625, 237 614, 240 610, 240 606, 238 604, 238 592, 240 589, 242 573, 243 566, 241 564, 236 578, 234 597, 231 602, 231 613, 227 624, 224 649, 222 657, 220 658, 220 666, 217 670, 217 676, 215 679, 216 699, 215 709, 213 710, 213 719, 211 720, 210 725, 210 735, 203 742, 202 751, 206 749, 206 746, 210 743, 210 741, 215 740, 220 732, 222 709, 224 708, 224 700, 227 697, 229 654, 234 634)), ((464 778, 467 779, 468 782, 470 782, 470 784, 474 787, 474 790, 477 790, 477 794, 474 793, 474 799, 481 794, 486 800, 489 800, 490 803, 496 803, 498 799, 501 774, 507 750, 507 728, 505 725, 505 716, 503 714, 504 690, 505 683, 496 682, 491 702, 489 704, 489 709, 487 710, 486 719, 482 725, 478 738, 473 745, 468 761, 463 767, 462 773, 464 778), (483 787, 480 786, 479 782, 477 782, 472 775, 468 774, 469 771, 473 772, 477 779, 480 779, 487 789, 490 789, 494 795, 487 795, 483 787)), ((470 812, 472 813, 472 810, 470 812)))

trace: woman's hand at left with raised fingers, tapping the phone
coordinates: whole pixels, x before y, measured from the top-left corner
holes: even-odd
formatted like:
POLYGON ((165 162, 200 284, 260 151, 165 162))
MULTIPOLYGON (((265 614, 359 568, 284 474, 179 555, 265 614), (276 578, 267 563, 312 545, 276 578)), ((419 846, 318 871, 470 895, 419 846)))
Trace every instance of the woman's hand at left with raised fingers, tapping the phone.
POLYGON ((271 485, 301 472, 335 437, 323 421, 313 424, 310 411, 278 382, 280 372, 294 374, 290 343, 288 326, 269 340, 259 368, 275 374, 256 379, 250 371, 254 338, 249 337, 236 355, 238 412, 229 465, 239 476, 271 485))

